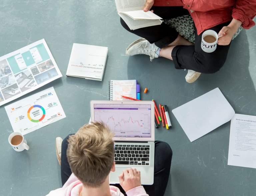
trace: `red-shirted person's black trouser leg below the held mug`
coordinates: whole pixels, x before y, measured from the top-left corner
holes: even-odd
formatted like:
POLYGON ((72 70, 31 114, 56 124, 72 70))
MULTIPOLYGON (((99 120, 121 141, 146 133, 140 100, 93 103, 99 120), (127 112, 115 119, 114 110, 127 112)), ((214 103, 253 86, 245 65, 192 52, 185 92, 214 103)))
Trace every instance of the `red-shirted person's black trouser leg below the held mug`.
MULTIPOLYGON (((222 27, 227 26, 230 22, 219 24, 210 28, 217 33, 222 27)), ((229 45, 218 45, 216 50, 211 53, 204 52, 201 49, 202 34, 197 35, 195 29, 195 46, 175 46, 172 50, 172 58, 176 69, 191 69, 200 73, 215 73, 224 65, 229 45)), ((231 42, 230 42, 231 43, 231 42)))

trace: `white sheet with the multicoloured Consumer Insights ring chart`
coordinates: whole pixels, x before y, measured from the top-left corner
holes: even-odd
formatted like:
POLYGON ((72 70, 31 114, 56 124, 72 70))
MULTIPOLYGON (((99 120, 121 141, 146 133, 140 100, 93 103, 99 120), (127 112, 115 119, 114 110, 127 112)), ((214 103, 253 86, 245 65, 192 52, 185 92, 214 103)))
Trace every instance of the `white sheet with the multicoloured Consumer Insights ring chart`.
POLYGON ((53 87, 7 105, 5 110, 13 131, 23 135, 66 117, 53 87))

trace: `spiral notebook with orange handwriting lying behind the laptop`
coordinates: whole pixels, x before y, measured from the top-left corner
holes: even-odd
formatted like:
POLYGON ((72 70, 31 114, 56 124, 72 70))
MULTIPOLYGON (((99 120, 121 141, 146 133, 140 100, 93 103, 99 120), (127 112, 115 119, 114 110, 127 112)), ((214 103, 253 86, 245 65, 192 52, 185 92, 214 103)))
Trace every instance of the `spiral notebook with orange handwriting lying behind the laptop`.
POLYGON ((138 99, 139 93, 140 85, 137 84, 137 80, 110 80, 109 82, 109 100, 127 100, 121 95, 138 99))

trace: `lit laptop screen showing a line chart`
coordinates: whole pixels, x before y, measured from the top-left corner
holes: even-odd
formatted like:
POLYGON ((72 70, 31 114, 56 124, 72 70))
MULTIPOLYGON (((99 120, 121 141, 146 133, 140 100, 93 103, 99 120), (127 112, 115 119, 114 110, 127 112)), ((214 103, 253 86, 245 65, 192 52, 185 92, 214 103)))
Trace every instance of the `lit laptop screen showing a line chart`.
POLYGON ((103 121, 114 137, 151 137, 150 104, 94 103, 94 121, 103 121))

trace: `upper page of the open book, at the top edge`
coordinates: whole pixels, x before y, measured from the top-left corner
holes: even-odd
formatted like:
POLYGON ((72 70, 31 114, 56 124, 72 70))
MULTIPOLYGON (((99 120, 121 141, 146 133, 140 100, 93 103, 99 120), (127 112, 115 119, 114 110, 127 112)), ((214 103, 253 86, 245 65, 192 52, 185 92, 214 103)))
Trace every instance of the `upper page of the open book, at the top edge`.
POLYGON ((142 10, 146 4, 146 0, 115 0, 117 12, 127 12, 142 10))

